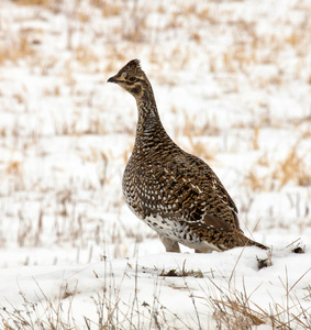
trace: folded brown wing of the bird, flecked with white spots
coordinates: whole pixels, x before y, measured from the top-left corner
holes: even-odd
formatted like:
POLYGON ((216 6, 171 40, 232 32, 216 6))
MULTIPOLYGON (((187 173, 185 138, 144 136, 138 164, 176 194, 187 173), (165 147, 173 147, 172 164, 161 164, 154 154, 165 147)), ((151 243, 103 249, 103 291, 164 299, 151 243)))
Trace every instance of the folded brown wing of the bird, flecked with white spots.
POLYGON ((169 164, 160 158, 141 164, 135 187, 142 209, 165 218, 240 229, 237 209, 212 169, 186 153, 173 160, 169 164))

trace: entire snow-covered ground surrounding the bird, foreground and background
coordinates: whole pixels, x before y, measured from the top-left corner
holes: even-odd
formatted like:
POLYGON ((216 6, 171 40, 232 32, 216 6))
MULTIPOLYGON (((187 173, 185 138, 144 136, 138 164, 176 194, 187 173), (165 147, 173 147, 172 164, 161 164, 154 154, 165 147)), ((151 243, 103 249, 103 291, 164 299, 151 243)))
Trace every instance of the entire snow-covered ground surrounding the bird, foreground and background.
POLYGON ((0 2, 4 329, 60 315, 78 329, 214 329, 215 301, 241 297, 242 329, 311 324, 309 2, 0 2), (271 266, 258 271, 267 255, 251 248, 164 253, 126 208, 136 108, 105 81, 132 58, 170 136, 215 170, 244 232, 273 246, 271 266))

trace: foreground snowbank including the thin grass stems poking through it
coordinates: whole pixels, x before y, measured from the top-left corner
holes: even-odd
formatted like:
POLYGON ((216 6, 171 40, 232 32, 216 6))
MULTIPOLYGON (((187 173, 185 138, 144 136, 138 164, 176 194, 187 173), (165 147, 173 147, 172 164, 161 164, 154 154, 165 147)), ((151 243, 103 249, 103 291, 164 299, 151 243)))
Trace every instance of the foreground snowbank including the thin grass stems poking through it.
POLYGON ((296 329, 299 323, 292 316, 298 316, 301 324, 311 326, 310 252, 297 255, 277 251, 273 266, 260 271, 255 255, 265 257, 263 251, 249 248, 208 256, 158 253, 85 266, 5 268, 0 272, 1 295, 5 297, 1 304, 12 310, 9 301, 14 301, 15 307, 30 311, 25 319, 31 324, 37 320, 44 323, 46 305, 53 304, 53 310, 45 311, 51 319, 58 316, 69 319, 71 327, 85 324, 85 329, 87 323, 91 329, 98 329, 95 324, 105 324, 109 329, 113 324, 118 324, 116 329, 148 329, 149 326, 152 329, 214 329, 222 322, 211 318, 213 304, 222 299, 227 304, 227 299, 235 301, 237 297, 247 306, 245 310, 258 317, 259 322, 255 324, 263 323, 260 329, 270 327, 264 324, 268 321, 266 316, 255 312, 257 306, 281 320, 290 310, 288 329, 292 324, 296 329), (190 274, 163 276, 169 270, 176 273, 186 270, 190 274))

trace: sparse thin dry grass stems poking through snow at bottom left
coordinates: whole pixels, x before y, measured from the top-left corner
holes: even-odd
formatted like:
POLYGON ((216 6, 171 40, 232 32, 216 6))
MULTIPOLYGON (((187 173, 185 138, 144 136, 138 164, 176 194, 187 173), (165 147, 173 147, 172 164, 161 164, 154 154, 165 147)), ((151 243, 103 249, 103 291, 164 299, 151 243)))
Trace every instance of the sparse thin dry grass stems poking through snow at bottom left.
MULTIPOLYGON (((0 306, 0 324, 4 330, 32 330, 32 329, 51 329, 51 330, 69 330, 84 329, 77 326, 78 317, 85 321, 86 329, 137 329, 147 328, 163 329, 170 328, 169 319, 174 318, 174 323, 182 324, 185 329, 191 329, 189 324, 182 321, 182 316, 171 312, 167 307, 159 301, 159 278, 154 283, 154 295, 152 304, 138 300, 138 265, 134 266, 134 284, 132 287, 133 294, 130 300, 123 300, 122 280, 119 286, 115 285, 114 275, 110 263, 104 257, 103 262, 104 275, 101 278, 102 288, 92 297, 93 304, 89 310, 96 310, 97 319, 88 317, 88 311, 82 315, 75 316, 74 302, 78 294, 78 283, 70 289, 69 285, 63 283, 59 287, 59 293, 55 298, 51 299, 46 296, 38 283, 36 286, 40 290, 40 302, 30 301, 23 293, 20 293, 23 304, 22 308, 18 309, 10 302, 8 307, 0 306)), ((129 271, 133 266, 127 264, 123 277, 129 276, 129 271)), ((185 270, 185 273, 190 274, 185 270)), ((97 280, 99 275, 93 272, 97 280)), ((188 275, 185 275, 188 276, 188 275)), ((132 277, 132 276, 131 276, 132 277)), ((35 280, 35 279, 34 279, 35 280)), ((186 285, 187 288, 187 285, 186 285)), ((189 293, 192 295, 188 287, 189 293)), ((190 297, 193 308, 200 324, 200 316, 198 314, 193 297, 190 297)), ((198 329, 202 329, 201 326, 198 329)))

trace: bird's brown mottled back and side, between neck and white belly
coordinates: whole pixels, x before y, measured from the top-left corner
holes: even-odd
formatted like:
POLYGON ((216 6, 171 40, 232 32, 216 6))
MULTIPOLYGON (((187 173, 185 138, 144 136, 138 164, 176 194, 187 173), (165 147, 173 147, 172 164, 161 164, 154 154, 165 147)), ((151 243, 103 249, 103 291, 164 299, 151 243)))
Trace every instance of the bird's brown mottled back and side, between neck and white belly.
POLYGON ((156 128, 136 136, 123 191, 140 218, 159 213, 196 223, 208 213, 240 230, 237 209, 211 167, 156 128))

